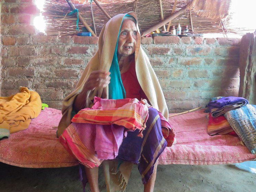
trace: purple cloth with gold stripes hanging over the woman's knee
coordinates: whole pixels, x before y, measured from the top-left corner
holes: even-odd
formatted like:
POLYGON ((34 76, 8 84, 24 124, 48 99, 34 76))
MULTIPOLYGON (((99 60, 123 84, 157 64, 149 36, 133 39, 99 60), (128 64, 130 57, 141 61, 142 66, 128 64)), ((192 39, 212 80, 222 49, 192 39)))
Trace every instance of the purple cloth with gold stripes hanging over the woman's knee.
POLYGON ((155 161, 164 151, 167 142, 161 131, 161 120, 158 111, 149 108, 149 118, 143 137, 138 137, 139 130, 128 131, 127 137, 119 147, 120 161, 129 161, 138 164, 143 184, 147 183, 153 173, 155 161))

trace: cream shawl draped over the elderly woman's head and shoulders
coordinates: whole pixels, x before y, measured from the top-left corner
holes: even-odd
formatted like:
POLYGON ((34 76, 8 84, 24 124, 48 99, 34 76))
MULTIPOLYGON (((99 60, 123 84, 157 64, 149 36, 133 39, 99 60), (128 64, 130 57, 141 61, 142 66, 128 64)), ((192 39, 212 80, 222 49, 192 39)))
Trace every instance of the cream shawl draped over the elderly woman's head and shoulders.
MULTIPOLYGON (((96 70, 109 71, 113 60, 121 23, 123 21, 123 17, 127 14, 133 16, 137 21, 137 16, 135 12, 118 14, 114 16, 112 19, 110 19, 102 28, 102 31, 98 39, 98 51, 86 65, 75 90, 63 100, 61 110, 62 118, 60 120, 57 131, 58 137, 71 123, 71 112, 73 110, 74 100, 76 96, 82 91, 83 86, 85 82, 88 80, 91 72, 96 70)), ((159 84, 159 81, 155 75, 153 68, 151 67, 148 56, 141 48, 141 37, 139 33, 138 22, 136 25, 138 29, 138 40, 135 48, 135 63, 136 74, 139 84, 144 93, 146 94, 146 96, 148 97, 150 104, 155 109, 159 110, 163 114, 163 116, 168 120, 168 109, 161 86, 159 84)), ((93 105, 94 96, 108 98, 108 87, 95 88, 93 91, 91 91, 89 93, 88 98, 85 98, 86 107, 91 107, 93 105)))

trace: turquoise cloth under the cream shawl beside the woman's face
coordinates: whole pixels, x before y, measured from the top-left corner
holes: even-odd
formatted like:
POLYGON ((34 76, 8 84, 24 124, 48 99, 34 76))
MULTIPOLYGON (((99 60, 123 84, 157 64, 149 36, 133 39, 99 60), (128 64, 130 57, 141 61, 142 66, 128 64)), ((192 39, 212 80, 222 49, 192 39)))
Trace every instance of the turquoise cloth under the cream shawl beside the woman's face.
MULTIPOLYGON (((125 16, 130 16, 131 15, 125 15, 125 16)), ((124 21, 124 18, 123 18, 124 21)), ((121 26, 123 24, 123 21, 121 23, 121 26)), ((110 83, 108 85, 108 98, 109 99, 124 99, 125 97, 125 88, 121 80, 121 75, 119 71, 119 65, 117 61, 117 46, 118 46, 118 38, 121 30, 121 26, 119 28, 119 33, 117 36, 117 42, 116 42, 116 48, 113 56, 113 60, 109 69, 110 72, 110 83)))

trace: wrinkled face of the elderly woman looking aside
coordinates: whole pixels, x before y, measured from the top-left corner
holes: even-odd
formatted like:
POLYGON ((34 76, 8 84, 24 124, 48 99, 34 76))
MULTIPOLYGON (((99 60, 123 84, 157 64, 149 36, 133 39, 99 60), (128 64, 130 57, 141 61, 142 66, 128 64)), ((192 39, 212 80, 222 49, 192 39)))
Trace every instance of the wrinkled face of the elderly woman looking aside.
POLYGON ((129 56, 134 53, 137 43, 137 33, 136 24, 129 19, 125 19, 118 38, 117 55, 129 56))

